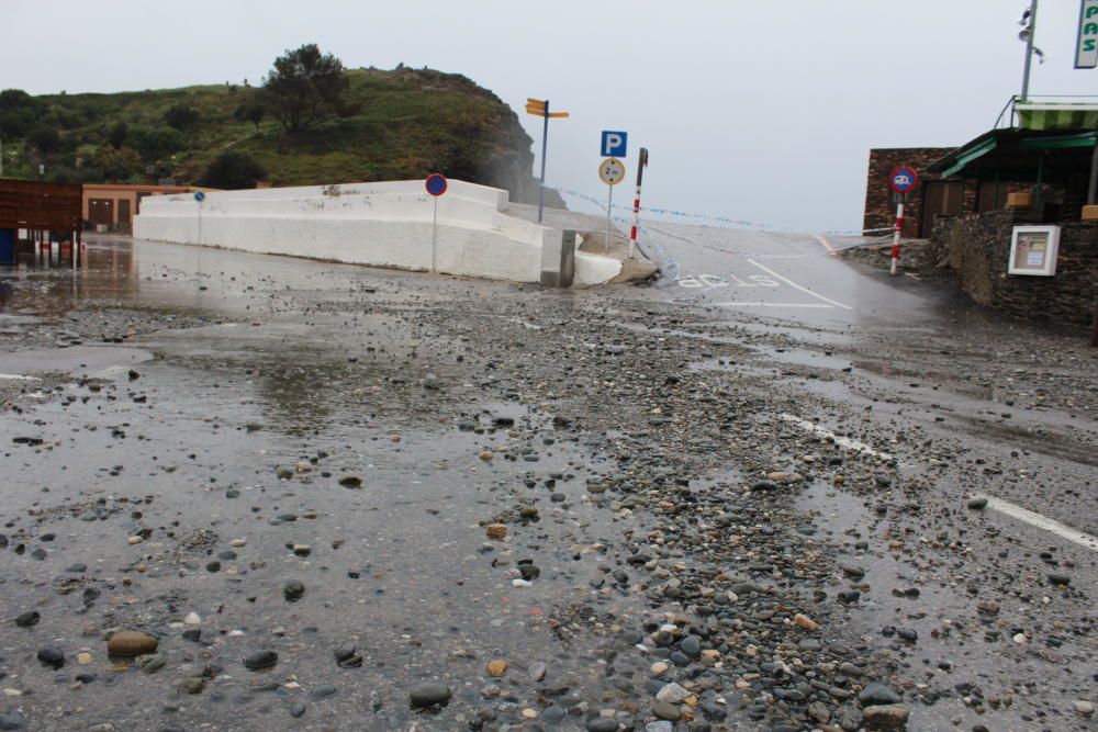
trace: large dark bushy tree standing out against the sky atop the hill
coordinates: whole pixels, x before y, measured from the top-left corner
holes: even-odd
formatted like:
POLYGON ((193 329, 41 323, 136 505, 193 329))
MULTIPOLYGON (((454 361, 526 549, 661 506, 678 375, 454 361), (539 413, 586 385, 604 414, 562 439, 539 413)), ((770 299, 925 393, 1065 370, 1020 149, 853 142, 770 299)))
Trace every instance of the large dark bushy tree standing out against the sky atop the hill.
POLYGON ((343 61, 321 54, 314 43, 276 58, 274 68, 264 80, 279 122, 290 134, 307 129, 338 109, 349 86, 343 61))

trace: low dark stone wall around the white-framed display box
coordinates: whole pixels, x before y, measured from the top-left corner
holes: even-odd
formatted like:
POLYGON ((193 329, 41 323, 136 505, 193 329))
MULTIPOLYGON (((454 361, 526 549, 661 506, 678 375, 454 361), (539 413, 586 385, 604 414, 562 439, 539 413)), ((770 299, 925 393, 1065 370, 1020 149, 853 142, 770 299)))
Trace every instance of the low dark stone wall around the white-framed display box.
POLYGON ((1098 222, 1060 224, 1054 277, 1008 274, 1011 229, 1027 218, 1009 210, 940 218, 928 259, 946 262, 981 304, 1017 317, 1089 326, 1098 307, 1098 222))

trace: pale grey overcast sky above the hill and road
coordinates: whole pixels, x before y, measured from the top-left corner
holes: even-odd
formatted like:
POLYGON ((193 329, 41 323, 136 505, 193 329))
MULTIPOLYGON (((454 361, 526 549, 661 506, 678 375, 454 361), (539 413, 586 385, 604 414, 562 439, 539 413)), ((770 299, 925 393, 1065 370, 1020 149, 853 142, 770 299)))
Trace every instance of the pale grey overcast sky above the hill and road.
MULTIPOLYGON (((0 88, 119 91, 259 80, 317 43, 348 67, 464 74, 516 111, 549 98, 548 182, 605 196, 598 134, 651 151, 645 203, 856 228, 871 147, 952 146, 1021 83, 1028 0, 0 0, 0 88)), ((1041 0, 1031 93, 1073 69, 1079 0, 1041 0)), ((525 114, 535 147, 540 125, 525 114)), ((618 188, 618 201, 629 193, 618 188)))

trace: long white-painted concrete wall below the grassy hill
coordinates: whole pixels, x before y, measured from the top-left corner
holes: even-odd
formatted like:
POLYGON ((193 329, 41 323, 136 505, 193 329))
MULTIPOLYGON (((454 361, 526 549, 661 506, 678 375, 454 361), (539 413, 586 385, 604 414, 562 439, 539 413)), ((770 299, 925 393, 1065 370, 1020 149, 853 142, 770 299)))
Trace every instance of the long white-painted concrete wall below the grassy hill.
MULTIPOLYGON (((146 198, 141 239, 309 257, 406 270, 432 269, 432 196, 423 181, 216 191, 146 198)), ((542 250, 562 232, 503 212, 507 192, 449 181, 438 199, 439 272, 539 282, 542 250)), ((579 254, 576 284, 616 277, 621 262, 579 254)))

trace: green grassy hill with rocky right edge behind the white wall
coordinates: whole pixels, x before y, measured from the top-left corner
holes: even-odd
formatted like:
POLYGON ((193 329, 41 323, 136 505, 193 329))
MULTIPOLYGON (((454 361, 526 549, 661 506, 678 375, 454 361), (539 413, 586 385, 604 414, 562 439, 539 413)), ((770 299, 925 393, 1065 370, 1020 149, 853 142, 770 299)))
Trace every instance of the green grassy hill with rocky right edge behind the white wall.
POLYGON ((346 71, 340 113, 292 137, 271 111, 255 124, 247 86, 113 94, 0 93, 4 176, 68 182, 197 183, 221 153, 246 154, 274 185, 395 180, 442 173, 535 200, 531 140, 515 113, 469 79, 400 67, 346 71), (176 105, 198 113, 173 129, 176 105))

